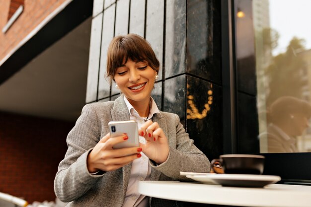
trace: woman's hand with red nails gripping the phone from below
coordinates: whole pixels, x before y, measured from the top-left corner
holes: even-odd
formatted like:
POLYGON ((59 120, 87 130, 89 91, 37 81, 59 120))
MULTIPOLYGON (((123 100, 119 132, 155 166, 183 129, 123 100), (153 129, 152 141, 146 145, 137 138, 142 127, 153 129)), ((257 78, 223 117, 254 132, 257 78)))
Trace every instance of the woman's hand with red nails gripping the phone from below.
POLYGON ((113 145, 126 141, 127 135, 110 138, 108 133, 92 149, 87 156, 87 169, 90 173, 116 170, 141 157, 141 147, 113 149, 113 145))

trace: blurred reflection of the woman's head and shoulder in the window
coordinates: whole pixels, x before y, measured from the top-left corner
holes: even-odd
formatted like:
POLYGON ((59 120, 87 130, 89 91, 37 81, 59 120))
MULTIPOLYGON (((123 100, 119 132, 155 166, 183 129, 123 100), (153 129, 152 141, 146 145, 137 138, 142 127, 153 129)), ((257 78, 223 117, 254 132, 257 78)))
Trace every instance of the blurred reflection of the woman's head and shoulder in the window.
POLYGON ((267 130, 260 134, 260 148, 268 153, 299 152, 298 138, 309 127, 311 105, 304 100, 283 96, 266 110, 267 130))

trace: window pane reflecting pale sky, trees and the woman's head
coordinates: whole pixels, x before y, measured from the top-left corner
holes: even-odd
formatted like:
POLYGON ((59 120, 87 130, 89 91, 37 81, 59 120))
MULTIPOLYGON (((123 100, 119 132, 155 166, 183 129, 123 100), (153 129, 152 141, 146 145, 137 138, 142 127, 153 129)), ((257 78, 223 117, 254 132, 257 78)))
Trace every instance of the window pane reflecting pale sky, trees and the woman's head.
POLYGON ((311 14, 306 7, 311 2, 252 0, 262 153, 311 152, 311 14))

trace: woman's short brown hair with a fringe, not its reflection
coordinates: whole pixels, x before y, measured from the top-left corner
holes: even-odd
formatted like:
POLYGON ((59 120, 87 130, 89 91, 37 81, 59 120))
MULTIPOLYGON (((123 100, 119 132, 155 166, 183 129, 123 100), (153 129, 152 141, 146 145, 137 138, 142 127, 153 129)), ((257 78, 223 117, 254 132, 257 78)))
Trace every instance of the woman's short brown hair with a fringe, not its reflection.
POLYGON ((132 61, 147 61, 148 65, 158 71, 159 61, 147 40, 137 34, 117 36, 111 41, 107 53, 106 76, 113 79, 116 70, 131 59, 132 61))

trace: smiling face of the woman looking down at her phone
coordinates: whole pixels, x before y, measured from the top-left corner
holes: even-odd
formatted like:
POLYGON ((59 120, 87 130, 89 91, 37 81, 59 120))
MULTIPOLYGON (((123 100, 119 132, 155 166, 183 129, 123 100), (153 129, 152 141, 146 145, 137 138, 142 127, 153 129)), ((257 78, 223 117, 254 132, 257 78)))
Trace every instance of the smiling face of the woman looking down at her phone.
POLYGON ((114 80, 132 105, 144 101, 148 104, 156 73, 147 62, 133 62, 129 59, 116 70, 114 80))

